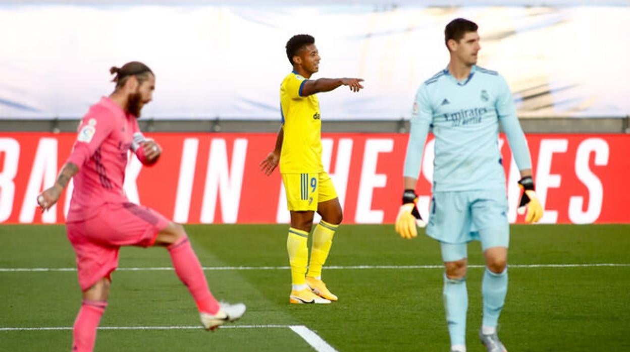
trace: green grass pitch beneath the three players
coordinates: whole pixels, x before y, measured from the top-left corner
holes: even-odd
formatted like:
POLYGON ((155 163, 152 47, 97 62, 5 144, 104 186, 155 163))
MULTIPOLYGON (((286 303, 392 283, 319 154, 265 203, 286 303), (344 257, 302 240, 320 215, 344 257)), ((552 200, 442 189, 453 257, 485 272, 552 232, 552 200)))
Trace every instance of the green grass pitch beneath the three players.
MULTIPOLYGON (((234 324, 243 328, 101 329, 95 351, 313 351, 285 327, 296 325, 337 351, 449 348, 439 247, 423 234, 407 241, 392 225, 341 226, 326 264, 333 268, 323 272, 340 300, 290 305, 289 270, 277 268, 288 265, 287 225, 186 229, 215 297, 248 305, 234 324), (362 265, 378 268, 357 268, 362 265), (241 266, 253 268, 226 268, 241 266)), ((630 225, 513 225, 511 236, 510 287, 500 319, 510 351, 630 351, 630 225), (615 265, 591 265, 605 263, 615 265)), ((0 351, 69 351, 69 330, 6 330, 72 326, 81 302, 75 271, 9 271, 74 268, 65 228, 1 225, 0 239, 0 351)), ((483 264, 478 242, 469 245, 469 264, 483 264)), ((121 251, 120 268, 163 267, 171 267, 164 249, 121 251)), ((476 336, 482 273, 472 267, 467 276, 469 351, 483 351, 476 336)), ((113 274, 101 327, 199 324, 174 271, 113 274)))

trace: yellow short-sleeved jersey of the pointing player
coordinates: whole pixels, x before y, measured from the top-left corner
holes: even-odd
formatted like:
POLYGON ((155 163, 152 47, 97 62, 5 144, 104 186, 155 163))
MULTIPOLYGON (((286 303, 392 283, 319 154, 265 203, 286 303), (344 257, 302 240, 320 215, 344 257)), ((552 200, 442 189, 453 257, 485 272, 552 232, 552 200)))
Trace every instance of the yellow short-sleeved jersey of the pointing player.
POLYGON ((307 79, 293 71, 280 85, 282 152, 280 173, 321 173, 321 118, 316 94, 302 96, 307 79))

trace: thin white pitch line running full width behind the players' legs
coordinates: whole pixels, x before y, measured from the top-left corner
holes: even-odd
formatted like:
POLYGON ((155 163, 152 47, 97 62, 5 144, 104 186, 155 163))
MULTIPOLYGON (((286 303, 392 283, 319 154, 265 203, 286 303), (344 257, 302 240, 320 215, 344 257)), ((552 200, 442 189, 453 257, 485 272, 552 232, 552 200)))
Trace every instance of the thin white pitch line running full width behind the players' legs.
MULTIPOLYGON (((508 264, 509 268, 597 268, 597 267, 625 268, 630 263, 592 263, 592 264, 508 264)), ((326 266, 328 270, 375 270, 375 269, 442 269, 442 265, 351 265, 326 266)), ((469 265, 468 268, 484 268, 483 265, 469 265)), ((289 266, 204 266, 206 271, 241 271, 241 270, 289 270, 289 266)), ((0 268, 0 273, 14 272, 48 272, 48 271, 76 271, 76 268, 0 268)), ((118 268, 117 271, 173 271, 172 267, 147 268, 118 268)))

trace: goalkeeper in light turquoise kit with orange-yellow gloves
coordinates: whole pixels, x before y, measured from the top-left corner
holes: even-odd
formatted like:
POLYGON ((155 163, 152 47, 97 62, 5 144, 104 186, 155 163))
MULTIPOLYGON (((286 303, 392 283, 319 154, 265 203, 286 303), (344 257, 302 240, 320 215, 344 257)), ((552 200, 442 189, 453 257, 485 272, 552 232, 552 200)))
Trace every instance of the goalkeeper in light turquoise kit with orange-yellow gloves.
POLYGON ((481 343, 490 352, 507 351, 496 332, 508 287, 510 242, 505 172, 498 144, 499 124, 507 135, 520 170, 523 190, 519 208, 525 220, 542 217, 534 192, 532 166, 525 135, 505 79, 476 65, 481 49, 477 25, 457 18, 445 28, 449 65, 418 88, 404 162, 403 205, 396 232, 417 236, 424 225, 417 211, 416 181, 430 128, 435 135, 433 190, 427 235, 440 242, 444 261, 444 304, 450 351, 466 351, 467 243, 481 241, 483 275, 481 343))

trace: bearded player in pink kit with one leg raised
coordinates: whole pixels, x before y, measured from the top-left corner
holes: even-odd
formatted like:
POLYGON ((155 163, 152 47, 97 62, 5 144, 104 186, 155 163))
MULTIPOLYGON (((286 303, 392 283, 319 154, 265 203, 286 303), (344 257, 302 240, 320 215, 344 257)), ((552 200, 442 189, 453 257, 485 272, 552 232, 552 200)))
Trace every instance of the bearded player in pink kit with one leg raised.
POLYGON ((156 79, 141 62, 112 67, 110 72, 116 74, 115 90, 89 108, 57 181, 37 197, 42 211, 49 209, 74 177, 66 230, 76 253, 83 292, 83 304, 72 329, 72 351, 79 352, 94 348, 120 246, 168 249, 175 273, 194 298, 205 329, 214 330, 245 312, 244 304, 220 304, 210 293, 181 225, 151 208, 130 203, 125 196, 128 151, 144 165, 154 164, 162 153, 156 142, 144 138, 137 122, 142 106, 152 99, 156 79))

